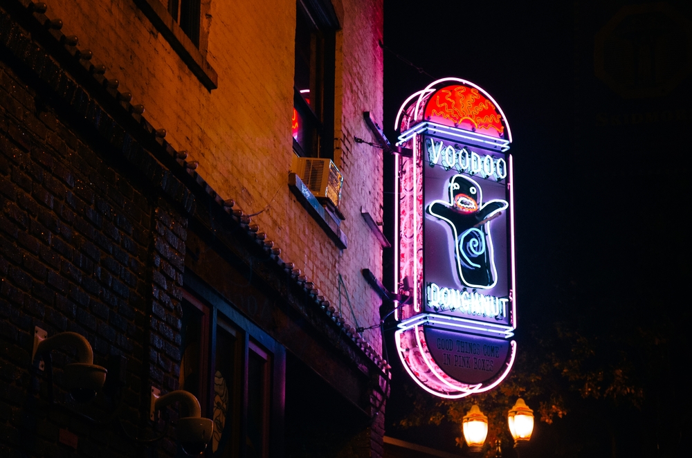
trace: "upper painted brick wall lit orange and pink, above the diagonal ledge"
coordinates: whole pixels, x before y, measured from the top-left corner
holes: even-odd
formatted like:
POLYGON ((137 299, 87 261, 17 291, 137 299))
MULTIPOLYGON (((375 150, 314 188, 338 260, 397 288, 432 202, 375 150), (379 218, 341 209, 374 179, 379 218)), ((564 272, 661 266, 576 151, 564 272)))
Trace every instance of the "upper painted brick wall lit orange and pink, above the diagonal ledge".
MULTIPOLYGON (((78 35, 107 77, 142 103, 149 122, 168 131, 167 141, 199 161, 198 172, 224 199, 235 199, 255 217, 284 258, 308 275, 338 304, 343 276, 361 326, 379 320, 379 297, 361 269, 381 277, 381 248, 361 217, 361 207, 381 219, 382 157, 379 149, 355 144, 370 139, 363 111, 382 120, 381 0, 335 0, 342 30, 336 50, 335 159, 345 178, 343 231, 349 248, 340 252, 288 188, 293 158, 295 1, 212 1, 208 25, 210 65, 219 87, 205 89, 170 45, 131 1, 51 1, 46 15, 64 21, 66 35, 78 35)), ((355 317, 355 319, 354 319, 355 317)), ((379 335, 366 338, 379 348, 379 335)))

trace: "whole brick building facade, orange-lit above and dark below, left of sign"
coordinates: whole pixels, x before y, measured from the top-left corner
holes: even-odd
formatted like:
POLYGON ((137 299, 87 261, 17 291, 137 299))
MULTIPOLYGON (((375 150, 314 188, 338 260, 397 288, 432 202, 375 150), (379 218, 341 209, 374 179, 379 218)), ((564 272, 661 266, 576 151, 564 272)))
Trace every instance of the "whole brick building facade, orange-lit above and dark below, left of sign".
POLYGON ((354 138, 383 6, 271 3, 0 2, 1 456, 180 454, 152 387, 197 396, 208 456, 381 456, 382 152, 354 138), (334 161, 338 208, 299 156, 334 161), (89 340, 93 401, 75 349, 37 369, 37 328, 89 340))

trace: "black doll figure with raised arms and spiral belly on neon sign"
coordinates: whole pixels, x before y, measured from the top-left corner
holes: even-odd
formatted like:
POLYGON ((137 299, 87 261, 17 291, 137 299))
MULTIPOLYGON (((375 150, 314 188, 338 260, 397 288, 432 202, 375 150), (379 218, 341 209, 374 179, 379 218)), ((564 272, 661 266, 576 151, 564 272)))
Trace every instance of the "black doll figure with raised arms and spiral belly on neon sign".
POLYGON ((450 178, 449 201, 433 201, 428 213, 446 221, 455 240, 457 269, 462 283, 471 288, 492 288, 497 280, 490 221, 509 205, 493 199, 483 203, 483 191, 471 178, 450 178))

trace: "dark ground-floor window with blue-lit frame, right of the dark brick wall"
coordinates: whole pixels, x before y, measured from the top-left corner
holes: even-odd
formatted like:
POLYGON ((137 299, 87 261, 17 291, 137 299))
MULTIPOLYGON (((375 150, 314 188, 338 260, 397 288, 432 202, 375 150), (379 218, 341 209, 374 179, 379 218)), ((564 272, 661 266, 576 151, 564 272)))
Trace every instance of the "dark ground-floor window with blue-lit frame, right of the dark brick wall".
POLYGON ((280 417, 273 409, 282 407, 273 403, 275 377, 282 376, 274 354, 283 348, 262 331, 244 329, 244 320, 234 322, 228 304, 220 310, 189 293, 184 298, 179 385, 214 421, 207 456, 268 457, 273 416, 280 417))

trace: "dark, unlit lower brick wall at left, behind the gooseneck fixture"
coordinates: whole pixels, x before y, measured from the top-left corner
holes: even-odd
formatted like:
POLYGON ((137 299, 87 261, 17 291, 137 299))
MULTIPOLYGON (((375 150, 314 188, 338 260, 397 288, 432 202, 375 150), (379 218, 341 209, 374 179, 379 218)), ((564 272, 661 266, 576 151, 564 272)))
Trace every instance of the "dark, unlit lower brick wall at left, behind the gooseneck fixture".
MULTIPOLYGON (((169 190, 175 178, 2 11, 0 22, 0 455, 67 454, 71 446, 55 448, 61 434, 78 434, 87 456, 129 454, 142 446, 112 425, 48 406, 46 374, 30 370, 34 327, 82 334, 98 365, 126 356, 119 418, 131 432, 145 425, 149 387, 177 388, 179 203, 189 195, 178 186, 183 201, 163 199, 149 178, 169 190)), ((59 403, 69 403, 60 368, 73 357, 53 351, 59 403)), ((103 395, 102 408, 77 408, 102 418, 114 402, 103 395)), ((174 450, 172 439, 163 450, 174 450)))

